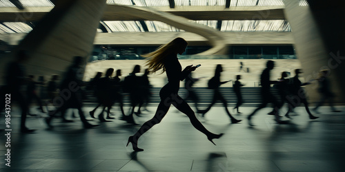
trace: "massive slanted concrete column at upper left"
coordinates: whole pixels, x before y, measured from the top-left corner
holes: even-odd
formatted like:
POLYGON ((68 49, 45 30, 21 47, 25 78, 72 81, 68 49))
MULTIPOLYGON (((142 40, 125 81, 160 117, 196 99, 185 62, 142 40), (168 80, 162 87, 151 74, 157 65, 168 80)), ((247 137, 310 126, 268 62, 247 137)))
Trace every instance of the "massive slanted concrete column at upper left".
POLYGON ((63 0, 55 5, 12 53, 1 59, 2 69, 18 50, 27 50, 30 56, 27 74, 46 77, 62 74, 73 56, 90 56, 106 0, 63 0))

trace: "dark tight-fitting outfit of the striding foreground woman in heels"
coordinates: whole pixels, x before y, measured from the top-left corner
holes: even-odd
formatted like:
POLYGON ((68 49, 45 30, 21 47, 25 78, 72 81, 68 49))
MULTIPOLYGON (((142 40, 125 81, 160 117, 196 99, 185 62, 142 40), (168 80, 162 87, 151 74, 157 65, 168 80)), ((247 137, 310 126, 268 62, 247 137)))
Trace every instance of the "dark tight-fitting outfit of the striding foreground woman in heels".
POLYGON ((164 87, 162 87, 161 91, 159 92, 161 102, 157 107, 155 116, 152 119, 146 121, 144 125, 142 125, 141 128, 137 131, 137 133, 135 133, 135 135, 133 136, 134 140, 137 141, 142 134, 144 134, 154 125, 157 125, 159 122, 161 122, 164 116, 166 116, 170 105, 174 105, 179 111, 186 114, 195 129, 206 134, 206 136, 212 136, 213 133, 210 133, 210 131, 208 131, 201 124, 201 122, 197 120, 194 111, 190 108, 186 101, 177 94, 177 92, 179 92, 180 80, 184 80, 184 78, 186 78, 186 76, 190 72, 181 71, 182 67, 176 55, 169 54, 165 59, 165 69, 166 76, 168 76, 168 83, 164 85, 164 87))

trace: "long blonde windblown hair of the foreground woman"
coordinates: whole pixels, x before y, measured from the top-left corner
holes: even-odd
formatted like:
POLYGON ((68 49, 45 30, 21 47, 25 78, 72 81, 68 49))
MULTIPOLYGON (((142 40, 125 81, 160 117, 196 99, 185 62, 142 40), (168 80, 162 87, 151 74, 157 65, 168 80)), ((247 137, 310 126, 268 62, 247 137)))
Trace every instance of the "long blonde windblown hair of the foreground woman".
POLYGON ((166 56, 168 54, 171 54, 173 52, 176 52, 180 50, 182 47, 187 46, 187 41, 178 37, 170 43, 167 43, 165 45, 161 45, 160 47, 155 50, 155 52, 150 52, 148 54, 144 54, 141 56, 144 56, 148 59, 146 62, 146 65, 148 66, 148 70, 150 72, 157 72, 159 69, 163 69, 161 73, 164 73, 166 71, 165 63, 166 63, 166 56))

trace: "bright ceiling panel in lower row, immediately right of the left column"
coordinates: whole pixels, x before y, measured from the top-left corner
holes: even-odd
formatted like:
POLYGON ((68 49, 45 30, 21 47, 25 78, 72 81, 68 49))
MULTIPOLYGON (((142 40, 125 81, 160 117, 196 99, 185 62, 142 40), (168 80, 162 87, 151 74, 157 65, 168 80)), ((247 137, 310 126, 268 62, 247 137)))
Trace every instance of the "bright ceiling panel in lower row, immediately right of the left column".
POLYGON ((144 32, 139 21, 104 21, 112 32, 144 32))

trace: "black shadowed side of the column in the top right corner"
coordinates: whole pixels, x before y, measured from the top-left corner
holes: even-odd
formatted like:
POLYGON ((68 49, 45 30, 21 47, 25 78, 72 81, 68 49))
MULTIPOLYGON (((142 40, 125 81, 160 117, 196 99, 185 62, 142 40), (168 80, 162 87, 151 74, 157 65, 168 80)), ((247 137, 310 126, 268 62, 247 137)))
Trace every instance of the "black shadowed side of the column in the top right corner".
POLYGON ((308 1, 326 51, 327 64, 333 76, 332 83, 339 87, 337 97, 345 103, 345 1, 308 1))

